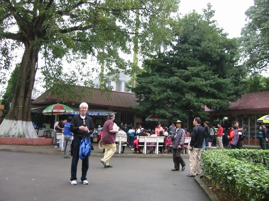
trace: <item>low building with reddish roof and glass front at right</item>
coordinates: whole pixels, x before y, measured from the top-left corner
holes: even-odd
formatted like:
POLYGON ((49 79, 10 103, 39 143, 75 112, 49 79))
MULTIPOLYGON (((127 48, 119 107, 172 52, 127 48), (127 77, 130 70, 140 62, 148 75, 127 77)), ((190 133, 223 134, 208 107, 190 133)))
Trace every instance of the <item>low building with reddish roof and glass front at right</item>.
POLYGON ((223 123, 226 130, 235 121, 239 122, 239 127, 243 127, 246 135, 243 144, 259 145, 259 124, 257 119, 269 114, 269 91, 257 91, 244 94, 241 99, 230 103, 224 112, 206 109, 210 114, 210 121, 213 125, 218 122, 223 123))

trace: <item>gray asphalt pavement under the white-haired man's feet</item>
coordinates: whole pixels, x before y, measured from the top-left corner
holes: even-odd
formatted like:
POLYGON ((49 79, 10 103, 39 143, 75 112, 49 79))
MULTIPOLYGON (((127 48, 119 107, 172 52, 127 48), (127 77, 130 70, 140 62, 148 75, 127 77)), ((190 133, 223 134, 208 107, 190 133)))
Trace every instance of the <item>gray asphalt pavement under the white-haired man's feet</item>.
MULTIPOLYGON (((186 177, 188 158, 184 171, 172 172, 172 158, 113 157, 105 169, 90 156, 89 185, 70 184, 71 158, 8 151, 0 158, 0 200, 209 200, 186 177)), ((78 178, 80 169, 81 160, 78 178)))

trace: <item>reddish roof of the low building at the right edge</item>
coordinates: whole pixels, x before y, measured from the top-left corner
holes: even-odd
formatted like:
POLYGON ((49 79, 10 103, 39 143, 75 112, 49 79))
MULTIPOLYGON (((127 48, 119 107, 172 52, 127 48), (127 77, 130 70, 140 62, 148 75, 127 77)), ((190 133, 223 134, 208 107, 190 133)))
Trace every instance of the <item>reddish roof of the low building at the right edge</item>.
MULTIPOLYGON (((225 111, 235 110, 268 110, 269 109, 269 91, 256 91, 242 95, 236 102, 230 102, 230 106, 225 111)), ((209 110, 206 108, 207 112, 209 110)))

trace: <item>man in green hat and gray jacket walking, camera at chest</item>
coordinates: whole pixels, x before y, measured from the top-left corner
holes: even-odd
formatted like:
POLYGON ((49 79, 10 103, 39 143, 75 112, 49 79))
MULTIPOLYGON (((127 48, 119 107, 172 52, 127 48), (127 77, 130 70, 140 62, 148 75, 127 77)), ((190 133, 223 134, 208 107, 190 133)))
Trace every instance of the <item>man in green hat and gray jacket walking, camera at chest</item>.
POLYGON ((179 171, 179 164, 182 166, 182 171, 185 169, 186 163, 181 157, 182 150, 184 149, 185 141, 185 130, 181 128, 182 122, 180 120, 175 121, 176 129, 173 131, 172 140, 172 151, 173 151, 173 161, 174 169, 172 171, 179 171))

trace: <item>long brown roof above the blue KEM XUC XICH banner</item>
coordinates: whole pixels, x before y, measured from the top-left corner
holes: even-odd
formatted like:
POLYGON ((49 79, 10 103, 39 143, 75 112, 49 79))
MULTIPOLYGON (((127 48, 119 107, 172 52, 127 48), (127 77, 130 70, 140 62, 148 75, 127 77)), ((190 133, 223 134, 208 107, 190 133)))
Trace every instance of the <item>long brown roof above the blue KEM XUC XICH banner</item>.
MULTIPOLYGON (((76 88, 79 86, 74 86, 74 91, 76 91, 76 88)), ((69 100, 68 102, 73 103, 81 103, 86 102, 89 105, 96 105, 96 106, 106 106, 106 107, 123 107, 128 108, 131 106, 136 106, 138 103, 135 99, 135 94, 132 93, 125 93, 125 92, 119 92, 119 91, 111 91, 109 95, 109 99, 107 98, 106 94, 102 94, 101 90, 96 88, 89 88, 93 92, 93 95, 91 97, 83 97, 78 100, 69 100)), ((85 93, 86 94, 86 93, 85 93)), ((44 94, 39 96, 37 99, 35 99, 32 103, 33 104, 46 104, 48 102, 56 102, 57 95, 52 94, 50 90, 46 91, 44 94)))

